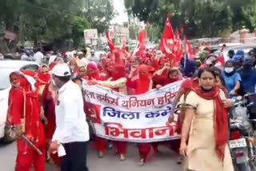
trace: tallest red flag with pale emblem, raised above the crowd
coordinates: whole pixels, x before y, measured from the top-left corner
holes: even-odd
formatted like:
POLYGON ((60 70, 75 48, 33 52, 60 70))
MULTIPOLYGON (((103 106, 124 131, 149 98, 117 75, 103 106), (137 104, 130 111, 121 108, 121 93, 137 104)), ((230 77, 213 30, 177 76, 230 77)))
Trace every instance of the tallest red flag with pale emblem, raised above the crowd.
POLYGON ((168 14, 166 18, 166 28, 162 34, 160 50, 163 54, 166 54, 167 57, 174 58, 174 30, 170 24, 170 16, 171 14, 168 14))

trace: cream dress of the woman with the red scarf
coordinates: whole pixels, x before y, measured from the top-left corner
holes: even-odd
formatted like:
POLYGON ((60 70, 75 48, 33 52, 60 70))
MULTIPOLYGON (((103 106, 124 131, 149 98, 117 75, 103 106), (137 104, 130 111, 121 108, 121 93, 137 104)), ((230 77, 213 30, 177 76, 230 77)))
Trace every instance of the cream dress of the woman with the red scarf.
POLYGON ((230 150, 226 145, 224 161, 215 151, 214 101, 199 97, 193 91, 186 103, 197 107, 190 127, 188 169, 203 171, 233 171, 230 150))

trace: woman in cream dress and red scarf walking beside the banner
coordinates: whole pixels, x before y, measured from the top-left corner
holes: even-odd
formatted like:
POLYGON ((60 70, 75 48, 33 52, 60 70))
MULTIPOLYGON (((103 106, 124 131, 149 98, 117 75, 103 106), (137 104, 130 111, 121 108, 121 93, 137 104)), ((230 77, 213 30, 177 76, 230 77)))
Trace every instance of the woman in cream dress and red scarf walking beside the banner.
POLYGON ((191 87, 186 97, 180 153, 186 156, 189 170, 234 170, 227 145, 228 106, 223 105, 227 94, 215 85, 215 78, 214 70, 199 70, 200 86, 191 87))

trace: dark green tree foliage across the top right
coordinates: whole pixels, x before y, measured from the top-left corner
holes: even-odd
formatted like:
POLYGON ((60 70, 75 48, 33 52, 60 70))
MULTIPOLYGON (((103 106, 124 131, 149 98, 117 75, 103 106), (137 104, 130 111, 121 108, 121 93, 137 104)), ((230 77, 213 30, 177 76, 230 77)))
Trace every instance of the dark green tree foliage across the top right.
POLYGON ((215 37, 242 26, 253 30, 256 25, 254 0, 125 0, 125 5, 130 14, 162 29, 166 14, 173 14, 174 30, 186 25, 190 38, 215 37))

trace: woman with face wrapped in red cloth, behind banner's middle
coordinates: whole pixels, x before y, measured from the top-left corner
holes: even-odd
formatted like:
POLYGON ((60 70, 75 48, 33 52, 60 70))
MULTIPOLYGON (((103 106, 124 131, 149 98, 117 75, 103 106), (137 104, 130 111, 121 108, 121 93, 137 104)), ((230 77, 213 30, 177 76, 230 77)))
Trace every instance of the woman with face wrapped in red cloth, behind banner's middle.
MULTIPOLYGON (((135 94, 142 94, 150 91, 153 86, 153 82, 150 79, 150 68, 146 65, 139 66, 138 68, 138 79, 132 81, 131 78, 128 78, 127 86, 135 89, 135 94)), ((144 165, 150 149, 153 149, 150 143, 138 143, 138 152, 140 154, 139 165, 144 165)))

